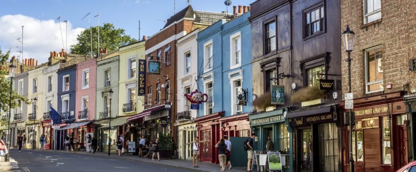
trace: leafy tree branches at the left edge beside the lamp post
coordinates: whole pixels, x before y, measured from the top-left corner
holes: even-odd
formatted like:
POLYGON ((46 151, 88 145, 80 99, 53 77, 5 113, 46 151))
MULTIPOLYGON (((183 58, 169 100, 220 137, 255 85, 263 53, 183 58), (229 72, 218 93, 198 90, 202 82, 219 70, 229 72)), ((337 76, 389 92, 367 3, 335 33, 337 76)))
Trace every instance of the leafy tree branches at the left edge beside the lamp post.
MULTIPOLYGON (((5 112, 9 110, 10 101, 10 79, 8 78, 8 66, 7 59, 9 58, 10 50, 6 54, 1 52, 0 48, 0 110, 5 112), (6 78, 7 77, 7 78, 6 78)), ((17 66, 17 64, 15 64, 17 66)), ((12 90, 11 94, 11 107, 15 108, 22 103, 30 104, 29 100, 21 95, 18 95, 15 90, 12 90)))

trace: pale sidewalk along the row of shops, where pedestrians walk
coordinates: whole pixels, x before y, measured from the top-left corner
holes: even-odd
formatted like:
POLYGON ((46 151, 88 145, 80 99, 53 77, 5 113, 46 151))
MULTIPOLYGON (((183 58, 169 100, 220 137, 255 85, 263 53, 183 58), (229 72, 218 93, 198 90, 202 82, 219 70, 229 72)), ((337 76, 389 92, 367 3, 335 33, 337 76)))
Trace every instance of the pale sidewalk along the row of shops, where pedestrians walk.
MULTIPOLYGON (((97 156, 107 156, 108 157, 108 153, 107 152, 96 152, 96 153, 90 153, 90 152, 85 152, 85 151, 73 151, 73 152, 67 152, 67 151, 61 151, 61 150, 56 150, 59 152, 66 152, 66 153, 78 153, 78 154, 89 154, 89 155, 97 155, 97 156)), ((188 170, 195 170, 195 171, 202 171, 202 172, 221 172, 221 167, 219 166, 219 164, 212 164, 212 163, 208 163, 208 162, 199 162, 198 166, 199 168, 194 168, 192 166, 192 161, 191 160, 179 160, 179 159, 172 159, 172 160, 166 160, 166 159, 161 159, 160 161, 156 160, 156 156, 155 156, 155 161, 152 161, 152 159, 148 159, 148 158, 140 158, 139 156, 136 155, 130 155, 127 156, 126 153, 124 153, 122 156, 118 156, 117 153, 115 152, 111 152, 111 157, 113 158, 121 158, 121 159, 128 159, 128 160, 133 160, 133 161, 141 161, 141 162, 147 162, 147 163, 153 163, 153 164, 158 164, 158 165, 164 165, 164 166, 171 166, 171 167, 176 167, 176 168, 185 168, 188 170)), ((247 161, 246 159, 242 160, 242 161, 247 161)), ((226 167, 226 171, 229 172, 246 172, 247 169, 246 167, 233 167, 231 170, 228 170, 228 167, 226 167)))

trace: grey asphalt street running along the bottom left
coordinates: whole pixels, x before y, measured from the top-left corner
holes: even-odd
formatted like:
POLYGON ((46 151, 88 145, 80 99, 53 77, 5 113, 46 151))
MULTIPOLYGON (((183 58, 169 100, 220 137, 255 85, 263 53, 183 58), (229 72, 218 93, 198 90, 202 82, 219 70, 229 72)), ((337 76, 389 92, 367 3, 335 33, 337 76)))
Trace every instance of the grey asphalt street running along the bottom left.
POLYGON ((195 172, 118 157, 27 149, 10 153, 21 172, 195 172))

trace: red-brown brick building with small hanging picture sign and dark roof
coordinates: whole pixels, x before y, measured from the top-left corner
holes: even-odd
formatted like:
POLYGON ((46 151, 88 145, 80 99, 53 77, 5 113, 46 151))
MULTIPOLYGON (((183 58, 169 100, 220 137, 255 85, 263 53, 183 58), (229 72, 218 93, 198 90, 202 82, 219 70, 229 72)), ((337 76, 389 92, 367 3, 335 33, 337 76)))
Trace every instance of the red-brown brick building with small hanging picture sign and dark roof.
MULTIPOLYGON (((170 133, 174 139, 171 150, 176 150, 177 147, 177 131, 173 128, 173 123, 176 121, 178 96, 176 94, 178 92, 176 88, 177 40, 195 29, 208 27, 224 15, 223 13, 196 11, 188 5, 167 19, 163 29, 146 40, 145 110, 129 119, 141 121, 147 130, 144 136, 150 140, 159 138, 159 133, 170 133)), ((161 147, 161 150, 166 149, 166 147, 161 147)))

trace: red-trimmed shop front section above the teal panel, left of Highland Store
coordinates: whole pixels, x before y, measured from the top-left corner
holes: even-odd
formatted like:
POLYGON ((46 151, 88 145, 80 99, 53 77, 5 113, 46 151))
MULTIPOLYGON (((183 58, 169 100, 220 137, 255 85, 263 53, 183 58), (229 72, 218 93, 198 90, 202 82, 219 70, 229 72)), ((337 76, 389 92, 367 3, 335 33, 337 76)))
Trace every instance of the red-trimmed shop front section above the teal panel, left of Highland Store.
POLYGON ((228 138, 249 137, 251 133, 248 119, 248 113, 220 118, 221 136, 227 135, 228 138))

